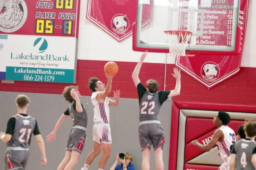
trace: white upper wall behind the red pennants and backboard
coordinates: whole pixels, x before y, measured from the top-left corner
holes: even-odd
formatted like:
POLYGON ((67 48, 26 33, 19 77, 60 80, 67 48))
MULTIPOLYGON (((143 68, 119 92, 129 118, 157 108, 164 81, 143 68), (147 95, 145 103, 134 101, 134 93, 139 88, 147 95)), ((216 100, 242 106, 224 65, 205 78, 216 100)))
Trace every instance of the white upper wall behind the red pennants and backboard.
MULTIPOLYGON (((137 62, 141 52, 132 50, 132 36, 122 42, 117 42, 86 18, 87 0, 81 1, 79 19, 78 59, 137 62)), ((256 67, 256 1, 251 0, 248 13, 248 24, 241 67, 256 67)), ((160 19, 161 17, 159 17, 160 19)), ((145 62, 165 63, 166 54, 150 53, 145 62)), ((174 64, 174 59, 168 57, 168 64, 174 64)))

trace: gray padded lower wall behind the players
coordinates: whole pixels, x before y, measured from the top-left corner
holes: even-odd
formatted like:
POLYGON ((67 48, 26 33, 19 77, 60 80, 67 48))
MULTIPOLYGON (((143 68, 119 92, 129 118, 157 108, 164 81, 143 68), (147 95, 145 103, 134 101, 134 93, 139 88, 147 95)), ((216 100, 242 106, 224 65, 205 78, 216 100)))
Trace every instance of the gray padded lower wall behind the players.
MULTIPOLYGON (((8 119, 17 113, 14 101, 16 96, 20 94, 17 92, 0 92, 0 131, 6 130, 8 119)), ((68 108, 68 102, 64 100, 62 95, 57 94, 32 94, 28 95, 32 100, 28 109, 28 114, 36 118, 38 126, 45 140, 45 136, 49 134, 55 126, 58 118, 68 108)), ((93 125, 93 109, 90 102, 90 96, 82 96, 81 103, 85 106, 88 115, 87 125, 87 139, 85 140, 85 147, 79 162, 74 170, 80 170, 84 161, 92 151, 92 125, 93 125)), ((133 163, 136 170, 141 170, 141 149, 139 146, 138 127, 139 127, 139 104, 137 99, 121 98, 117 107, 110 107, 110 124, 112 135, 112 154, 109 158, 105 170, 109 170, 111 165, 115 162, 115 156, 120 152, 130 152, 133 155, 133 163)), ((166 133, 166 140, 164 145, 164 166, 168 169, 169 161, 169 139, 170 139, 170 122, 171 122, 171 102, 165 102, 160 111, 160 118, 162 126, 166 133)), ((30 159, 26 170, 56 170, 58 164, 62 161, 65 154, 68 134, 72 127, 71 118, 68 117, 60 127, 56 141, 47 143, 45 141, 45 148, 47 154, 47 166, 40 166, 41 154, 32 137, 30 146, 30 159)), ((6 151, 6 144, 0 142, 0 169, 4 169, 4 154, 6 151)), ((102 154, 102 153, 101 153, 102 154)), ((92 162, 89 170, 98 169, 98 161, 100 155, 92 162)), ((154 152, 151 148, 151 169, 155 169, 154 152)))

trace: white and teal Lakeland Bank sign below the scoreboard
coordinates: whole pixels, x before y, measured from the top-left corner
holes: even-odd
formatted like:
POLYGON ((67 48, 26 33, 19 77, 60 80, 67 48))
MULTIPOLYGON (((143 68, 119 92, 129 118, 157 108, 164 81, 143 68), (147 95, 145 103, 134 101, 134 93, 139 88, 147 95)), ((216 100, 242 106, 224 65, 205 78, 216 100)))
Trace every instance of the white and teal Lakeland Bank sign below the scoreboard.
POLYGON ((0 70, 6 80, 75 82, 75 38, 8 35, 8 42, 0 70))

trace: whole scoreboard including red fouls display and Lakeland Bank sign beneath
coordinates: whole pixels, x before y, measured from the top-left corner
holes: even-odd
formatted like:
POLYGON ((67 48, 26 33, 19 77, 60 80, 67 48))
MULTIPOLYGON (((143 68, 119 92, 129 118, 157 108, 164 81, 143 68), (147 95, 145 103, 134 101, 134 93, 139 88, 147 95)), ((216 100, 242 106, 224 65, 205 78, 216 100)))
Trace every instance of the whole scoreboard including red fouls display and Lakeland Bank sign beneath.
POLYGON ((79 6, 0 0, 0 79, 75 83, 79 6))

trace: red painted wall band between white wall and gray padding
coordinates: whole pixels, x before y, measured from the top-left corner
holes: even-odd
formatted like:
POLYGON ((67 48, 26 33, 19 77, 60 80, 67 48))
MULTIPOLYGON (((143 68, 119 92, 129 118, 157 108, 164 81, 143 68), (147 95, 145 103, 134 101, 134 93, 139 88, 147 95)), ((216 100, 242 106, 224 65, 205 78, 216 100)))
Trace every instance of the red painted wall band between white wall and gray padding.
MULTIPOLYGON (((77 85, 83 96, 90 96, 87 88, 88 78, 97 76, 106 82, 103 68, 106 61, 77 60, 77 85)), ((113 79, 113 90, 120 89, 121 98, 137 98, 136 87, 131 75, 136 63, 117 62, 119 73, 113 79)), ((175 87, 175 79, 171 75, 174 65, 167 66, 166 90, 175 87)), ((149 78, 157 79, 160 83, 159 90, 164 89, 164 64, 144 63, 139 75, 141 82, 149 78)), ((174 98, 176 101, 226 103, 235 105, 256 105, 256 68, 241 67, 238 74, 232 78, 207 89, 198 81, 182 72, 181 95, 174 98)), ((66 83, 39 83, 15 81, 14 84, 0 83, 0 91, 32 92, 61 94, 66 83)), ((110 95, 112 96, 112 94, 110 95)))

